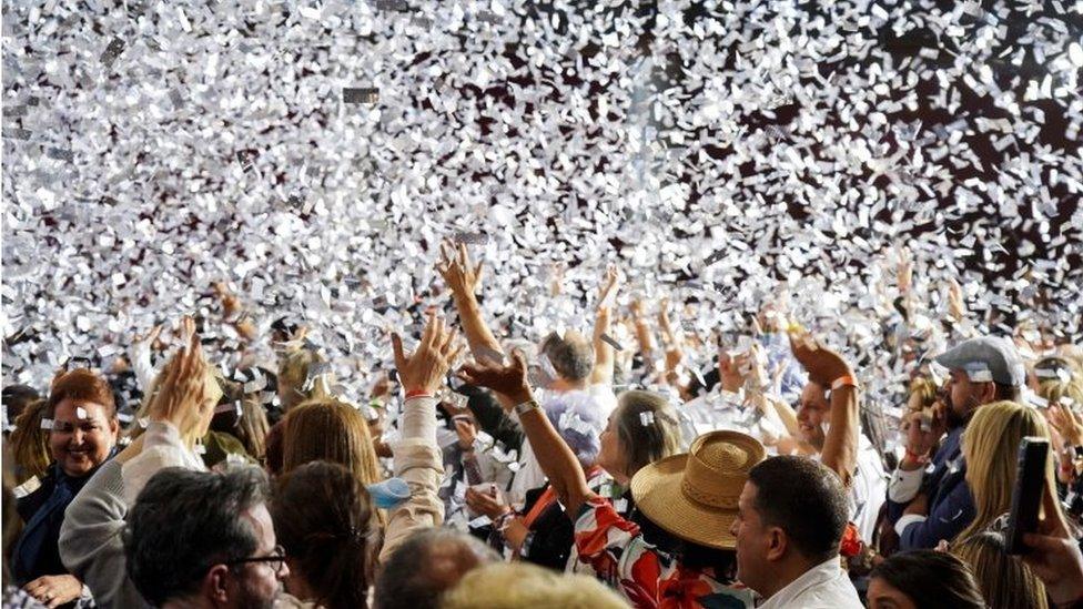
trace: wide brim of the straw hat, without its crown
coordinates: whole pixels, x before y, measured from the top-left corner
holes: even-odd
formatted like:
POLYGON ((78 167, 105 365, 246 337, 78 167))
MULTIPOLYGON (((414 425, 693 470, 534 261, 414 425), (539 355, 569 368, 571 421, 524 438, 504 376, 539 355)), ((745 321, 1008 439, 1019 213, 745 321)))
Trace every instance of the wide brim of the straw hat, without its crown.
POLYGON ((680 539, 709 548, 735 549, 737 538, 729 531, 737 510, 709 508, 685 497, 680 483, 687 460, 687 454, 674 455, 637 471, 631 479, 636 508, 680 539))

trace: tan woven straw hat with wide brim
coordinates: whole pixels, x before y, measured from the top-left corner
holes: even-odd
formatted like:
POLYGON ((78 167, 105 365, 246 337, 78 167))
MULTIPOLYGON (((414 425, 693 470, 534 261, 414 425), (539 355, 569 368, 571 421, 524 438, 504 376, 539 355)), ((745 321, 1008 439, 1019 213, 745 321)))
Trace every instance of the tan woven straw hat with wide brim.
POLYGON ((691 450, 636 473, 631 496, 647 518, 686 541, 733 549, 729 529, 748 471, 763 460, 763 445, 738 432, 710 432, 691 450))

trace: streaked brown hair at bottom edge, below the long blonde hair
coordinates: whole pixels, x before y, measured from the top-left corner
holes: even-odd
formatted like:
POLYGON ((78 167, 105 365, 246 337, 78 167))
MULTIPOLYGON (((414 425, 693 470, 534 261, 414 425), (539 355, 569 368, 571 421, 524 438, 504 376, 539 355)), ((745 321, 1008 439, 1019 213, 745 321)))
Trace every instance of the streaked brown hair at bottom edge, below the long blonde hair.
POLYGON ((954 544, 951 554, 970 566, 988 607, 1046 609, 1045 586, 1030 567, 1005 550, 1003 535, 984 531, 954 544))

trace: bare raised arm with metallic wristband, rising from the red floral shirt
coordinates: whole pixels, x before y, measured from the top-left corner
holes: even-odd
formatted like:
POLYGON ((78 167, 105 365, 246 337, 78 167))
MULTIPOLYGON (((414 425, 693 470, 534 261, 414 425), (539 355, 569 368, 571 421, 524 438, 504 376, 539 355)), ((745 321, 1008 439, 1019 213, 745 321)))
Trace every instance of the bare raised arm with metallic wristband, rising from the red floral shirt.
POLYGON ((549 423, 549 417, 534 400, 526 378, 526 362, 515 353, 507 366, 493 364, 467 364, 458 372, 459 378, 472 385, 488 387, 502 399, 516 404, 523 432, 530 440, 542 471, 560 497, 566 512, 575 518, 583 504, 594 497, 587 487, 587 478, 575 454, 568 448, 560 434, 549 423))

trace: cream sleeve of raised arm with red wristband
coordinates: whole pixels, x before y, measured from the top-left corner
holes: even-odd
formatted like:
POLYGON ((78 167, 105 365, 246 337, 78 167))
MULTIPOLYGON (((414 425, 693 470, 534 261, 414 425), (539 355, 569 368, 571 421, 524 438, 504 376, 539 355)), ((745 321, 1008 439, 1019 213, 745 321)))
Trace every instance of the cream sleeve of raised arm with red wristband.
POLYGON ((384 561, 413 532, 438 527, 444 521, 444 503, 438 490, 444 461, 436 445, 436 399, 427 396, 406 400, 403 437, 392 445, 395 476, 409 486, 409 499, 392 509, 384 532, 379 560, 384 561))

